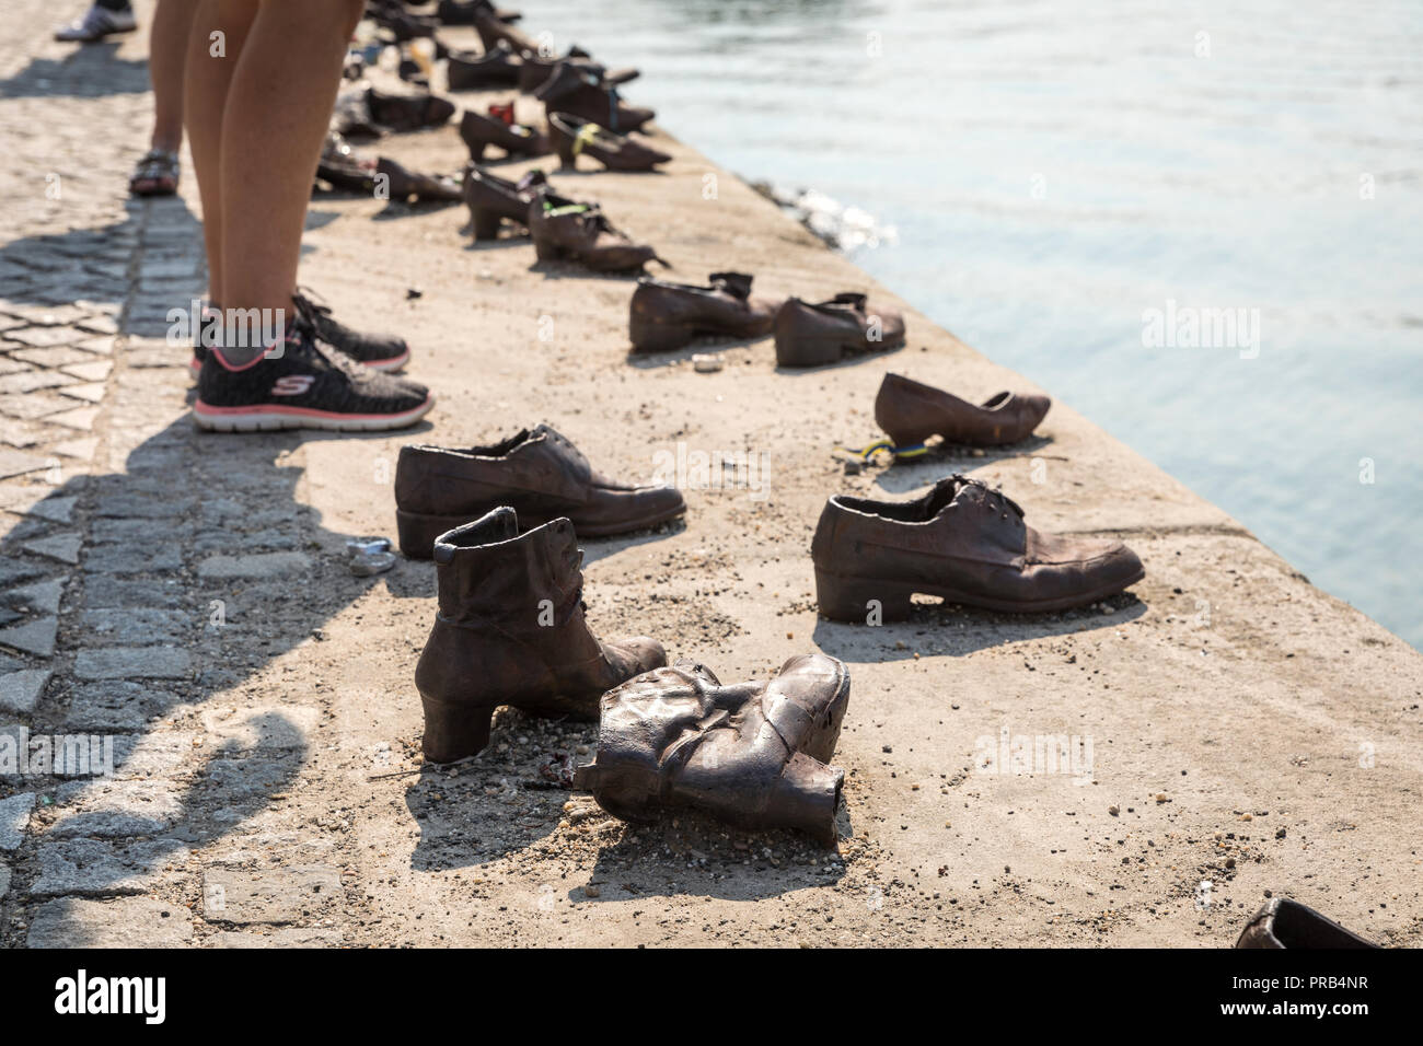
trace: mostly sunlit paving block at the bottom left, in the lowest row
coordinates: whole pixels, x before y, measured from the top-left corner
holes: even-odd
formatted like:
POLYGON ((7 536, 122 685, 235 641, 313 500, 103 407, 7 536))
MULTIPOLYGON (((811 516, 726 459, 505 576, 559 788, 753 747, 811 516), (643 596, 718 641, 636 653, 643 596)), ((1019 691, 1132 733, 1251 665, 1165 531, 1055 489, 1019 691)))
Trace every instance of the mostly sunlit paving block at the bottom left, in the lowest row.
POLYGON ((30 922, 28 948, 182 948, 192 942, 192 912, 148 897, 114 901, 61 898, 30 922))

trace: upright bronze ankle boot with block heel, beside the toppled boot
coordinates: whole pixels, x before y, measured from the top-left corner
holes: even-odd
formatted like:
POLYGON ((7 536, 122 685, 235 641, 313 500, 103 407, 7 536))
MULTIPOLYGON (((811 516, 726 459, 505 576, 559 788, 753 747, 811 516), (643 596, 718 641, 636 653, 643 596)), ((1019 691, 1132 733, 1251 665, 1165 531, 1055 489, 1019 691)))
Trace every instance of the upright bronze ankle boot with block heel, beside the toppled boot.
POLYGON ((482 750, 499 704, 591 719, 605 690, 667 663, 653 639, 601 643, 588 630, 568 519, 527 529, 497 508, 440 535, 434 559, 440 612, 416 666, 433 763, 482 750))

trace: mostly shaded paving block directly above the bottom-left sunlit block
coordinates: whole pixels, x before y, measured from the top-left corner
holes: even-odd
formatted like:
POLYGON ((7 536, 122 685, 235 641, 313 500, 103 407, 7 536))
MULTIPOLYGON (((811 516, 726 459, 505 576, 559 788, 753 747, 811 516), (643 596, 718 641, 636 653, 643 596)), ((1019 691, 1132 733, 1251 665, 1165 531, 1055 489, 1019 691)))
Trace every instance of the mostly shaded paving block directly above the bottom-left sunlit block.
POLYGON ((174 840, 122 845, 107 840, 44 840, 36 852, 40 874, 31 897, 117 897, 142 894, 188 862, 174 840))

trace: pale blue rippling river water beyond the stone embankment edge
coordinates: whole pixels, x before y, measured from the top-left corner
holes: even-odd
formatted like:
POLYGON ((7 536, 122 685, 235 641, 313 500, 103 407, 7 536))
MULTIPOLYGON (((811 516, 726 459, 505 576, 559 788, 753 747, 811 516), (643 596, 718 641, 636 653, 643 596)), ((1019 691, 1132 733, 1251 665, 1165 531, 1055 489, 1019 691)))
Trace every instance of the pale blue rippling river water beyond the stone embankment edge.
POLYGON ((895 226, 855 260, 1423 648, 1423 4, 527 11, 720 165, 895 226), (1168 300, 1258 346, 1146 344, 1168 300))

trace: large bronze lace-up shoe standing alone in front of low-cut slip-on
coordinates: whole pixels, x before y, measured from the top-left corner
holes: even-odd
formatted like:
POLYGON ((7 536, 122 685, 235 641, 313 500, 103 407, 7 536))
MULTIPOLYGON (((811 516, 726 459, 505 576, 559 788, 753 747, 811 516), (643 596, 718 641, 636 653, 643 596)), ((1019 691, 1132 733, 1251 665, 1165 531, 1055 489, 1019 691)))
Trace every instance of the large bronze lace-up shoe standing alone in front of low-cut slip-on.
POLYGON ((858 622, 902 620, 915 593, 1010 613, 1064 611, 1146 575, 1120 541, 1035 531, 1016 502, 962 475, 912 501, 837 494, 811 558, 820 612, 858 622))

